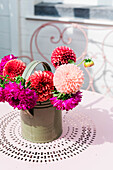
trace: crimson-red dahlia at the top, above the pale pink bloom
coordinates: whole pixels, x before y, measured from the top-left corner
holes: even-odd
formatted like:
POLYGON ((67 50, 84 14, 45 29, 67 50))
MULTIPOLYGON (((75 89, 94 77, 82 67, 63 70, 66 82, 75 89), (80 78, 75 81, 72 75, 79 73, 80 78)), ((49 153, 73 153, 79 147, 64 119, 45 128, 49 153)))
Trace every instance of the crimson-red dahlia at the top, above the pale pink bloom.
POLYGON ((55 68, 62 64, 67 64, 68 60, 73 60, 76 62, 76 54, 71 48, 60 46, 53 50, 51 55, 51 62, 55 68))

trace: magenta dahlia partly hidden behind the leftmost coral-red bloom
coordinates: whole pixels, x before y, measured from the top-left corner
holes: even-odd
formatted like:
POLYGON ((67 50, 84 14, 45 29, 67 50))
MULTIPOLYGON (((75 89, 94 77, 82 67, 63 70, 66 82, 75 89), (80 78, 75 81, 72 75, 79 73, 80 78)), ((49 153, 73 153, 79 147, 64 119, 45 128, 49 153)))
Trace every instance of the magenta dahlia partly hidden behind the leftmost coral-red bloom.
POLYGON ((2 58, 1 63, 0 63, 0 75, 3 75, 3 69, 5 64, 9 61, 9 60, 13 60, 13 59, 17 59, 17 57, 15 57, 14 55, 10 54, 7 56, 4 56, 4 58, 2 58))

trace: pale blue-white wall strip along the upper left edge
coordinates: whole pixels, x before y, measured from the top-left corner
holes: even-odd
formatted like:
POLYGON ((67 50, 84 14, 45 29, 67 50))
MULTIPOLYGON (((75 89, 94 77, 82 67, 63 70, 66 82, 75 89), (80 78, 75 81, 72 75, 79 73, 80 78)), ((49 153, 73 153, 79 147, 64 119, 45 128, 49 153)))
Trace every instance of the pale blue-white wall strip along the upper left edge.
POLYGON ((18 55, 19 1, 0 0, 0 58, 8 54, 18 55))

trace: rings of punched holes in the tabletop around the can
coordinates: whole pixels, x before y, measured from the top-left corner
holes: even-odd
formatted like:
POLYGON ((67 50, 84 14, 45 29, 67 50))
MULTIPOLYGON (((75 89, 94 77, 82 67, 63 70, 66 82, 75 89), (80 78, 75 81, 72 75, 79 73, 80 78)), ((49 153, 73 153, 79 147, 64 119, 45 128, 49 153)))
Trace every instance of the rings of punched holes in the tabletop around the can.
POLYGON ((63 112, 63 133, 49 143, 31 143, 21 136, 19 112, 14 110, 0 118, 0 152, 26 162, 49 163, 76 157, 96 137, 92 120, 82 113, 63 112))

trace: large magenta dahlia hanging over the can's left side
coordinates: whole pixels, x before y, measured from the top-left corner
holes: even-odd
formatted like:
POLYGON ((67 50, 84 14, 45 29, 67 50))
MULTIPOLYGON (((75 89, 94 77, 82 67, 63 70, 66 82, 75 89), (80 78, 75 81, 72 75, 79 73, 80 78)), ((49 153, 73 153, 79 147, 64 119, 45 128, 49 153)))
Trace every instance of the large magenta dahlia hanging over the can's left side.
POLYGON ((9 82, 5 85, 5 100, 14 108, 29 110, 37 102, 37 94, 34 90, 24 89, 21 84, 9 82))

